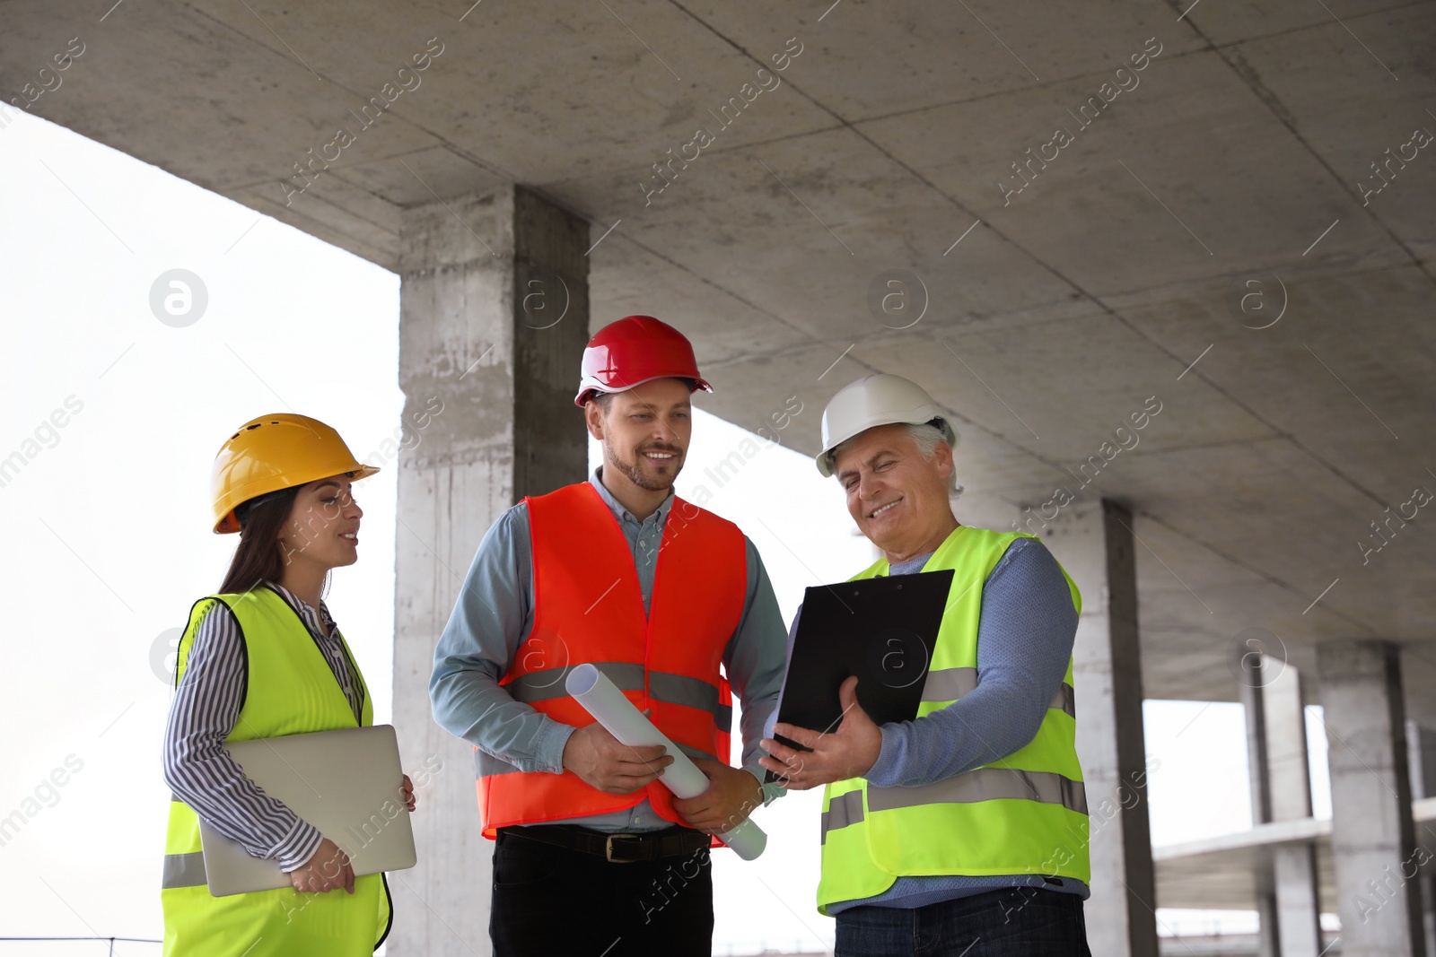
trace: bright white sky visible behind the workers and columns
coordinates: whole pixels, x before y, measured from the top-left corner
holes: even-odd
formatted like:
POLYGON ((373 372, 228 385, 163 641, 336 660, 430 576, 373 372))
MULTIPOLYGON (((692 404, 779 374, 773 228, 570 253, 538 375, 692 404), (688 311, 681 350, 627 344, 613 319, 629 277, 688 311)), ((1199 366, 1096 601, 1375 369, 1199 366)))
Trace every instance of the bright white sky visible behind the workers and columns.
MULTIPOLYGON (((0 937, 157 938, 169 692, 152 660, 220 583, 234 538, 207 531, 210 462, 257 415, 313 415, 388 466, 358 486, 362 558, 335 575, 327 601, 376 722, 391 713, 395 468, 378 459, 399 436, 399 280, 30 116, 0 131, 0 459, 26 459, 0 486, 0 818, 39 806, 0 847, 0 937), (208 296, 187 327, 149 304, 175 268, 208 296), (50 789, 66 759, 80 770, 50 789)), ((820 413, 804 409, 790 429, 816 430, 820 413)), ((804 587, 853 574, 870 547, 807 456, 767 448, 719 488, 705 468, 745 438, 699 413, 679 494, 714 492, 709 508, 757 542, 791 620, 804 587), (755 511, 773 488, 787 506, 755 511)), ((1241 709, 1147 702, 1146 722, 1160 762, 1155 844, 1249 826, 1241 709)), ((1324 737, 1318 720, 1308 726, 1317 814, 1328 816, 1324 737)), ((816 793, 784 798, 761 812, 763 858, 715 855, 715 953, 830 944, 833 924, 814 910, 817 814, 816 793)), ((1162 913, 1167 924, 1188 917, 1162 913)), ((30 953, 105 951, 0 943, 0 954, 30 953)))

